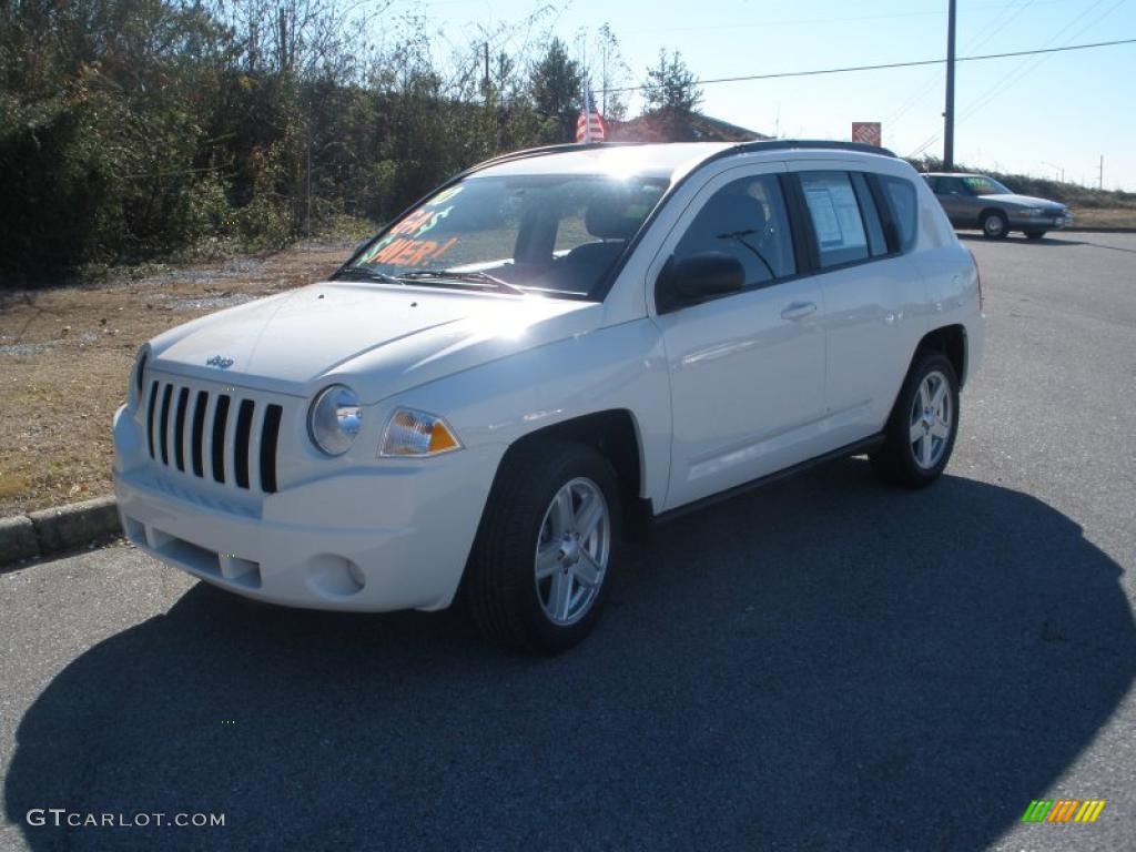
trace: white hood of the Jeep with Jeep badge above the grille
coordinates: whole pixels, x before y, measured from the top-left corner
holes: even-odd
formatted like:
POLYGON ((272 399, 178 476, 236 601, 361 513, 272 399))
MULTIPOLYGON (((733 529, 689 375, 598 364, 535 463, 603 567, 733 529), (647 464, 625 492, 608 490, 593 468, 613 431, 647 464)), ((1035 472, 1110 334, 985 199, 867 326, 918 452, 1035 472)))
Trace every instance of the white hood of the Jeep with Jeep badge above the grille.
POLYGON ((174 328, 158 370, 298 396, 349 382, 364 402, 596 328, 603 306, 325 282, 174 328))

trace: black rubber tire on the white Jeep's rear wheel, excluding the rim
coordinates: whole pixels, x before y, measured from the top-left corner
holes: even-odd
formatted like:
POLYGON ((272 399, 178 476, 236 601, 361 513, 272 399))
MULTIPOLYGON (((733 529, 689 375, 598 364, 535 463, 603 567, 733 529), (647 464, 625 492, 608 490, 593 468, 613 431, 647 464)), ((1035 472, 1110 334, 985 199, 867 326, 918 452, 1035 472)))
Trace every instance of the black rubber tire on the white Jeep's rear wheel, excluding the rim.
MULTIPOLYGON (((937 417, 932 418, 938 423, 937 417)), ((925 350, 916 354, 914 364, 903 379, 900 395, 895 400, 892 414, 884 427, 884 444, 872 452, 871 467, 884 482, 902 485, 908 488, 921 488, 930 485, 946 468, 954 451, 954 438, 959 433, 959 377, 951 361, 942 352, 925 350), (929 427, 925 427, 927 437, 932 441, 934 451, 930 453, 933 463, 926 465, 917 457, 916 442, 912 442, 912 431, 920 426, 914 421, 919 391, 929 376, 942 376, 945 381, 945 393, 950 402, 950 425, 943 436, 945 444, 935 444, 929 427), (939 449, 941 448, 941 449, 939 449)), ((924 443, 919 442, 920 451, 924 443)))

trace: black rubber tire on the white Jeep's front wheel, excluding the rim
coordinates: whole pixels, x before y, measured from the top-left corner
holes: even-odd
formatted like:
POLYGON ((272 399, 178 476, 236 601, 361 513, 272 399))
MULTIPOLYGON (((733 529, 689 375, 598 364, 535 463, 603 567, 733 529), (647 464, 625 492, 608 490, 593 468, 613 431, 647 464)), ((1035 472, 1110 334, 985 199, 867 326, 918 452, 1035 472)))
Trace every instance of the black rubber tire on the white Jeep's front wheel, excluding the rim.
POLYGON ((619 509, 616 473, 592 448, 545 441, 511 450, 493 483, 466 569, 466 604, 482 635, 512 650, 549 655, 587 636, 600 618, 618 561, 619 509), (536 549, 553 499, 580 479, 598 486, 607 503, 608 559, 590 607, 578 620, 561 625, 542 604, 536 549))

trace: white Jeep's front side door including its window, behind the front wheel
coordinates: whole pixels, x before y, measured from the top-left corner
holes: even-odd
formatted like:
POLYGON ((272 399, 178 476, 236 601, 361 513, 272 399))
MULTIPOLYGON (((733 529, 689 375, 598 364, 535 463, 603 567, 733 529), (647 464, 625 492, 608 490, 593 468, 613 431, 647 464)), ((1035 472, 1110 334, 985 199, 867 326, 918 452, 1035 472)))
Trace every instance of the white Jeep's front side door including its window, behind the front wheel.
POLYGON ((652 265, 713 251, 745 286, 659 314, 670 374, 671 474, 666 509, 819 454, 825 316, 815 276, 797 276, 783 166, 730 169, 708 183, 652 265))

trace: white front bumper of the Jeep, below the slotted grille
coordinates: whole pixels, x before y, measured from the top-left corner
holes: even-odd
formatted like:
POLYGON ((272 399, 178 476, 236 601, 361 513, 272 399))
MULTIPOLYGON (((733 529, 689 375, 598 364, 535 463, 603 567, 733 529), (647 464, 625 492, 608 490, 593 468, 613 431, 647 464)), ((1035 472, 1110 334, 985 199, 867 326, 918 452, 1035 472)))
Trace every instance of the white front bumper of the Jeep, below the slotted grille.
POLYGON ((369 612, 450 604, 504 451, 376 461, 237 504, 151 463, 136 433, 119 410, 115 494, 135 546, 248 598, 369 612))

